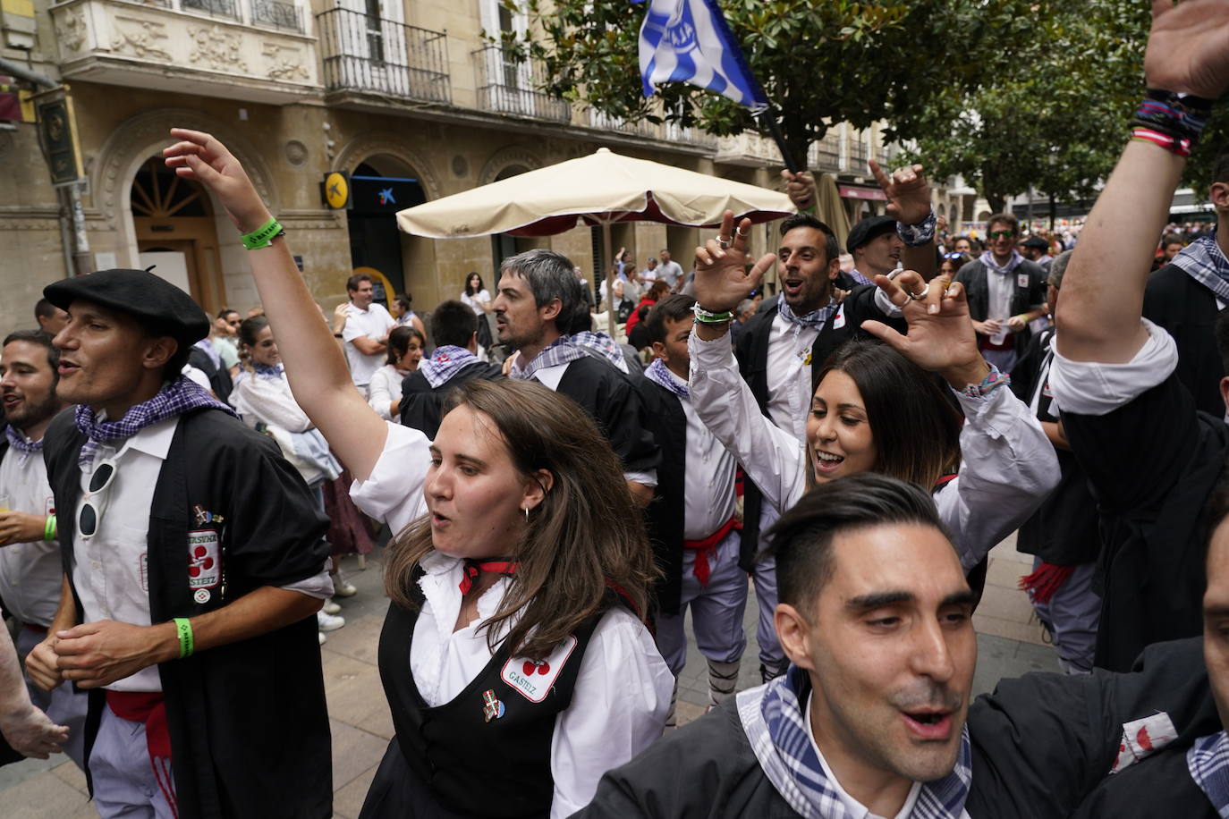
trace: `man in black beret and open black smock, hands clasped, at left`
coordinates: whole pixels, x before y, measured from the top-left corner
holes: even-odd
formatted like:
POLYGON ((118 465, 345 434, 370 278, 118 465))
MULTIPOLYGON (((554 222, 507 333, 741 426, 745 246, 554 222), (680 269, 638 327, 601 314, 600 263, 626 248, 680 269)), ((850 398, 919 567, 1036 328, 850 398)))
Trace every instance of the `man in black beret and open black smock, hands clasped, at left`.
POLYGON ((181 375, 209 332, 143 270, 49 285, 45 435, 64 592, 27 661, 90 690, 102 817, 328 817, 331 739, 316 618, 327 523, 269 438, 181 375), (134 810, 135 808, 135 810, 134 810))

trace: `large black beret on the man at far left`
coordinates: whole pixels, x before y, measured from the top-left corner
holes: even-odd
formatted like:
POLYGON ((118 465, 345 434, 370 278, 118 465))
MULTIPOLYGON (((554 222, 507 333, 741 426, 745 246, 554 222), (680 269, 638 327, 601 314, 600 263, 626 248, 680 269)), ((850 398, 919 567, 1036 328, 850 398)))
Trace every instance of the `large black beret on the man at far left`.
POLYGON ((61 279, 43 287, 43 296, 60 309, 81 298, 128 313, 157 335, 170 335, 183 345, 209 334, 209 318, 192 296, 145 270, 117 268, 61 279))

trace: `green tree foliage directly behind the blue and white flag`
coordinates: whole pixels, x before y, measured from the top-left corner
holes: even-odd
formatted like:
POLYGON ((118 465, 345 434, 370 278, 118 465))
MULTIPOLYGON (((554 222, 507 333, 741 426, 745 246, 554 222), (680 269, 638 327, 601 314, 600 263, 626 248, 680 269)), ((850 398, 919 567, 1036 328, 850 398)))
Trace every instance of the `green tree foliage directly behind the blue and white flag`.
MULTIPOLYGON (((644 5, 628 0, 504 0, 530 34, 504 44, 546 64, 546 90, 624 119, 666 118, 713 134, 767 133, 746 108, 685 83, 642 95, 644 5)), ((936 96, 970 90, 986 55, 1026 34, 1026 0, 721 0, 785 142, 805 156, 834 123, 908 123, 936 96)))

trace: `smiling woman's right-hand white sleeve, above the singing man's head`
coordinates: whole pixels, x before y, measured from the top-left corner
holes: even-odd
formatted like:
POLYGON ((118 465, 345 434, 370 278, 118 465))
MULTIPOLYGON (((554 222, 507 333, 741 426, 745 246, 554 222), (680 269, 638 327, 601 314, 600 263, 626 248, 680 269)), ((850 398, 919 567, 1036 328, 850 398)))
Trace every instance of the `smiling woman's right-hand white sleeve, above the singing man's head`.
POLYGON ((1010 389, 956 397, 965 410, 960 474, 934 501, 967 571, 1029 519, 1058 485, 1059 473, 1053 444, 1010 389))

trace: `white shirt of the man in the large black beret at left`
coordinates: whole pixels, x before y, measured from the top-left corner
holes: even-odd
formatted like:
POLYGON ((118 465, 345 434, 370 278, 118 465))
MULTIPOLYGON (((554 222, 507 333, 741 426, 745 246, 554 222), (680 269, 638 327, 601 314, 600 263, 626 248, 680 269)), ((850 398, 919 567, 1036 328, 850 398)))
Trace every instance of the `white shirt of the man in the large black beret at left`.
MULTIPOLYGON (((82 623, 116 620, 139 626, 151 625, 145 564, 150 508, 154 487, 178 425, 179 416, 176 415, 125 438, 118 449, 103 443, 95 451, 90 464, 81 469, 81 496, 73 511, 75 516, 80 516, 85 495, 90 490, 90 478, 97 465, 106 458, 116 464, 111 486, 95 499, 96 506, 102 508, 96 534, 82 540, 77 533, 74 540, 73 584, 81 600, 82 623)), ((183 548, 187 549, 188 544, 183 544, 183 548)), ((184 582, 187 583, 187 578, 184 582)), ((328 597, 333 593, 328 561, 324 561, 320 573, 313 577, 283 588, 321 599, 328 597)), ((113 691, 161 691, 162 680, 157 666, 150 666, 106 688, 113 691)))

